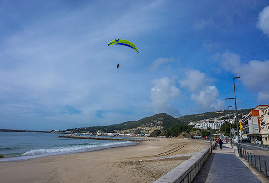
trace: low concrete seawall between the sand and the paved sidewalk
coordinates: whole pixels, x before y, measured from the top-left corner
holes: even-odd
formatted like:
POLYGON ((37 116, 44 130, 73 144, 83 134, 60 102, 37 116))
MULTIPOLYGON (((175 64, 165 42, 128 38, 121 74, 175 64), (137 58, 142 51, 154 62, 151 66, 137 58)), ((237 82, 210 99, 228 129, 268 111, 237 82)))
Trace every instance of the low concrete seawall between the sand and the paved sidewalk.
MULTIPOLYGON (((214 147, 215 143, 212 144, 212 148, 214 147)), ((153 183, 191 183, 202 168, 203 163, 206 161, 210 153, 210 147, 204 148, 201 152, 180 164, 153 183)))

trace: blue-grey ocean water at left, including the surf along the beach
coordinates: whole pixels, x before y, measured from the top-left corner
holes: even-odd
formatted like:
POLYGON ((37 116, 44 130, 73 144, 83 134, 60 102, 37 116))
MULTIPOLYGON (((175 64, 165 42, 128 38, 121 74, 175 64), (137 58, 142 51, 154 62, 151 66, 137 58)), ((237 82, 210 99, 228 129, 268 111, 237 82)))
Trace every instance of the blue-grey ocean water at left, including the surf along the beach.
MULTIPOLYGON (((0 162, 72 154, 105 148, 130 146, 131 141, 60 138, 62 134, 37 132, 0 132, 0 162)), ((87 135, 85 135, 87 136, 87 135)))

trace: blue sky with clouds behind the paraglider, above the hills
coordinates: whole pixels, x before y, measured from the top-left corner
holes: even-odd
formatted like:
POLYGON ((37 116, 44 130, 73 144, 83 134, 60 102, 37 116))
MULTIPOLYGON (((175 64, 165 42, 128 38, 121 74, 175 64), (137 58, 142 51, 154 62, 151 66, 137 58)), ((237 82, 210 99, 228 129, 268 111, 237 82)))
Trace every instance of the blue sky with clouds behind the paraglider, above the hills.
POLYGON ((268 50, 268 0, 2 0, 0 128, 269 104, 268 50))

